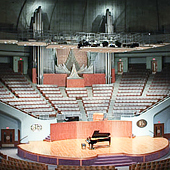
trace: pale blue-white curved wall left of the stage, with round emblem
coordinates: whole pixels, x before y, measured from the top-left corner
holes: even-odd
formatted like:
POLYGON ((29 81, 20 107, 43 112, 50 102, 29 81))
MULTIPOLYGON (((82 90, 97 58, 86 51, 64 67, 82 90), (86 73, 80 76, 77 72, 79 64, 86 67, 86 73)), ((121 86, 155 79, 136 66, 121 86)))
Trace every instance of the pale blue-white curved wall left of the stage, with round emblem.
POLYGON ((15 139, 18 139, 16 135, 18 132, 17 129, 19 129, 21 133, 21 139, 24 138, 21 143, 43 140, 50 134, 50 123, 55 122, 57 122, 56 119, 40 120, 34 118, 24 112, 0 102, 0 129, 6 129, 7 126, 9 129, 15 129, 15 139), (3 122, 4 117, 5 122, 3 122), (42 129, 34 131, 31 130, 31 126, 35 124, 41 125, 42 129))

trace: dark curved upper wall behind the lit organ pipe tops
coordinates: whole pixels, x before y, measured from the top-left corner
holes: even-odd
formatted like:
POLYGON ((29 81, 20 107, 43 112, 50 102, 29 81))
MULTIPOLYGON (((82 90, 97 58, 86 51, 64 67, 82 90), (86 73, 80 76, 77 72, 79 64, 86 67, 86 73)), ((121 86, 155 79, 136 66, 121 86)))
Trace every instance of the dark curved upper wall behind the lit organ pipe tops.
POLYGON ((0 26, 16 28, 19 20, 19 28, 29 28, 41 6, 44 29, 54 32, 103 32, 106 9, 111 11, 116 32, 170 32, 168 0, 26 0, 23 4, 22 0, 1 1, 0 26))

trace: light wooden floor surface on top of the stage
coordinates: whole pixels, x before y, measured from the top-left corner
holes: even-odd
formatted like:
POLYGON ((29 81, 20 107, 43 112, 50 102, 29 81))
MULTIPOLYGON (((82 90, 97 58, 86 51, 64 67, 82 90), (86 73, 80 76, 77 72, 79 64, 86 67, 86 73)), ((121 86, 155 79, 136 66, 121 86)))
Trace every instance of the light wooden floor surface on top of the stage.
POLYGON ((142 136, 135 138, 112 137, 109 142, 94 144, 94 150, 90 150, 85 139, 67 139, 54 142, 30 141, 28 144, 20 144, 25 151, 40 155, 49 155, 71 159, 88 159, 97 155, 127 154, 132 156, 147 155, 163 150, 169 146, 165 138, 152 138, 142 136), (81 143, 86 143, 86 149, 81 149, 81 143))

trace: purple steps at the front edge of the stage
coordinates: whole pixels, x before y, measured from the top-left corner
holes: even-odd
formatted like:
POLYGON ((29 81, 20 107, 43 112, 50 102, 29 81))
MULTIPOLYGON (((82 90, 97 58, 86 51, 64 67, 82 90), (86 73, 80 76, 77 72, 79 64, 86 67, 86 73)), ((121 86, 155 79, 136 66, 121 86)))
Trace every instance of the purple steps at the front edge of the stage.
POLYGON ((92 166, 129 166, 136 162, 125 155, 98 156, 92 166))

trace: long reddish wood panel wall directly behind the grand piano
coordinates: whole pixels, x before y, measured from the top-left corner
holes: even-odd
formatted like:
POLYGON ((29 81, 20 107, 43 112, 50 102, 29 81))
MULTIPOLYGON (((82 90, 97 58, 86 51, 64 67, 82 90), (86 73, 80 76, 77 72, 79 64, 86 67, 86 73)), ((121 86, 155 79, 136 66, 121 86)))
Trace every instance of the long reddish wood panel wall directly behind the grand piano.
POLYGON ((94 130, 109 132, 111 137, 129 137, 132 135, 131 121, 92 121, 65 122, 51 124, 51 141, 64 139, 84 139, 94 130))

